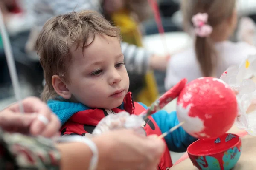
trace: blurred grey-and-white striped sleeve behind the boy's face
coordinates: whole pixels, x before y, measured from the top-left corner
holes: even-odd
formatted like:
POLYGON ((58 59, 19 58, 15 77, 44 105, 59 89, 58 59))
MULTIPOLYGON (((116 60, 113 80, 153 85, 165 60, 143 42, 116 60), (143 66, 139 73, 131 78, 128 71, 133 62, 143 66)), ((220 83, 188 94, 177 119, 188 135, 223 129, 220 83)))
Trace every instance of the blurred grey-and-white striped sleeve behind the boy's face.
POLYGON ((137 47, 126 42, 121 43, 121 48, 127 71, 135 74, 146 74, 149 69, 149 58, 151 54, 145 48, 137 47))

